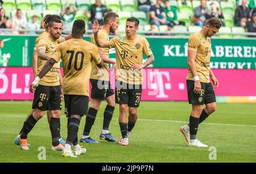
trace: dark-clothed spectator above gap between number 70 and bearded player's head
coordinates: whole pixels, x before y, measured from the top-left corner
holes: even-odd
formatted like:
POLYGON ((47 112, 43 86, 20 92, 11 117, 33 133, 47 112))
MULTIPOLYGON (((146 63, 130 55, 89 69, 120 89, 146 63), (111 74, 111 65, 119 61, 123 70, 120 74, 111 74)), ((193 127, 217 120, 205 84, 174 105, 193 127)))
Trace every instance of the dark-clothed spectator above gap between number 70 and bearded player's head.
POLYGON ((105 5, 101 3, 101 0, 96 0, 93 5, 90 6, 90 13, 85 9, 85 15, 90 18, 89 28, 92 29, 94 20, 98 20, 100 25, 103 25, 103 17, 108 10, 105 5))

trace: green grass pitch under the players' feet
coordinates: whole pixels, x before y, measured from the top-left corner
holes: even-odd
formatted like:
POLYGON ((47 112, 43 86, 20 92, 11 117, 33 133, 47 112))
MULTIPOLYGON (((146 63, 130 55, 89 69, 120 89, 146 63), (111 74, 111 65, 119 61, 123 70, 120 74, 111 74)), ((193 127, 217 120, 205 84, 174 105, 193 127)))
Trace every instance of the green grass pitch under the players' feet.
MULTIPOLYGON (((90 137, 99 140, 103 112, 102 103, 90 137)), ((0 102, 0 162, 256 162, 255 104, 217 104, 217 111, 199 126, 197 137, 208 146, 216 147, 216 160, 209 160, 209 148, 189 147, 179 132, 189 119, 191 105, 186 102, 145 102, 138 109, 137 124, 129 138, 129 146, 101 141, 83 144, 87 152, 76 159, 63 158, 51 151, 51 133, 47 116, 28 135, 30 150, 21 150, 13 143, 31 101, 0 102), (39 160, 38 148, 46 148, 46 160, 39 160)), ((115 108, 110 133, 121 136, 118 124, 119 107, 115 108)), ((82 118, 79 138, 84 129, 82 118)), ((61 116, 61 136, 67 138, 67 119, 61 116)))

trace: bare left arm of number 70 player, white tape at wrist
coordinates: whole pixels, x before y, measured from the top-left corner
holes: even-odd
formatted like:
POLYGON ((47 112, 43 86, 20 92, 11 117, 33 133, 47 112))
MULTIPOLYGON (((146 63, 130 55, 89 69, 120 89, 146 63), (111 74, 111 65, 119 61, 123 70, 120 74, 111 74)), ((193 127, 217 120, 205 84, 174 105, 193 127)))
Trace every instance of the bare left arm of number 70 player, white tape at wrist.
POLYGON ((52 69, 52 66, 54 65, 54 63, 56 63, 55 60, 53 60, 52 58, 50 58, 46 64, 44 64, 42 70, 40 71, 39 75, 34 79, 34 81, 30 84, 30 92, 34 93, 36 87, 38 87, 38 83, 40 81, 40 79, 42 79, 44 77, 44 75, 46 75, 46 73, 48 73, 49 70, 52 69))

